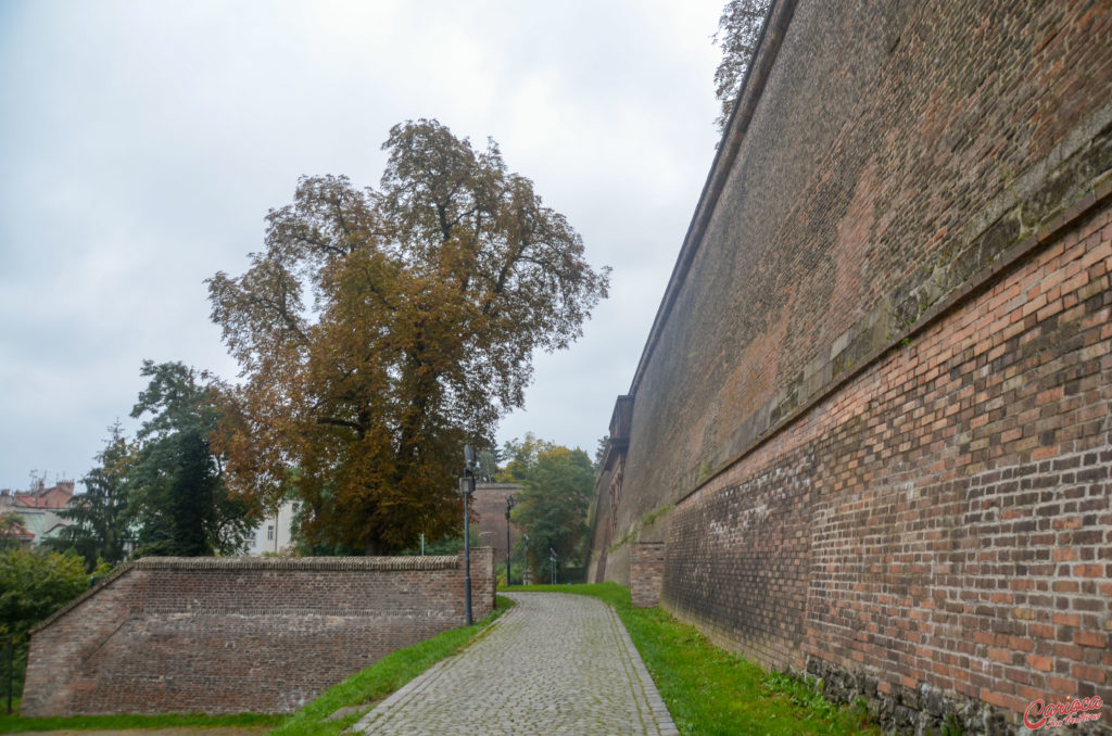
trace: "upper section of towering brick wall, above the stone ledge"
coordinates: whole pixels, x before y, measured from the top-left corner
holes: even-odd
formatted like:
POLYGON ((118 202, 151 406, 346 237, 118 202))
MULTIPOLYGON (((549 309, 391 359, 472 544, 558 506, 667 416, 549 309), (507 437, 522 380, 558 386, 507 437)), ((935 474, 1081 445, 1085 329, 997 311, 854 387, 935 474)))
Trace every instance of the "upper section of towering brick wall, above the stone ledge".
POLYGON ((776 4, 783 47, 634 377, 617 538, 1112 166, 1106 6, 776 4))

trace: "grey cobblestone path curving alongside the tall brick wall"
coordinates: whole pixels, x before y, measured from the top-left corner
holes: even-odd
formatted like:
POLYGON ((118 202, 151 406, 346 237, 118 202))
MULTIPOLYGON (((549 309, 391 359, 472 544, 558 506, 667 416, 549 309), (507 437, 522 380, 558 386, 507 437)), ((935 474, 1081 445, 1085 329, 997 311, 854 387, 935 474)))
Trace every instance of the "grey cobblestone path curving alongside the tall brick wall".
POLYGON ((460 655, 433 666, 350 730, 391 736, 678 732, 614 610, 562 593, 517 604, 460 655))

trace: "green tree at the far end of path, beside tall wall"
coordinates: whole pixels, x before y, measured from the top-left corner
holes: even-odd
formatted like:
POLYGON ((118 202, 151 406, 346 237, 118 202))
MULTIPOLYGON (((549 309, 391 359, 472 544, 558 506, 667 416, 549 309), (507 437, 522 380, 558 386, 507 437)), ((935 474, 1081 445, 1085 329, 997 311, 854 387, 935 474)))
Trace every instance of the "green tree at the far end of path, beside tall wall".
MULTIPOLYGON (((526 436, 526 440, 530 437, 526 436)), ((529 566, 537 571, 547 564, 549 549, 560 559, 578 557, 587 537, 595 471, 590 458, 578 448, 572 450, 543 440, 534 445, 538 449, 522 478, 513 518, 529 537, 529 566)))

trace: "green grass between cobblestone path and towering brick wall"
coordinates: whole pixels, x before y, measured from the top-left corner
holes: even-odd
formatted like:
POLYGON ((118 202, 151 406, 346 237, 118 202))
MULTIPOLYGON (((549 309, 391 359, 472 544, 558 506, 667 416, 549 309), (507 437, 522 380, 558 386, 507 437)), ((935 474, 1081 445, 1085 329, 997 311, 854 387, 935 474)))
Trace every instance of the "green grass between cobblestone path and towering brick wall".
POLYGON ((810 683, 721 649, 661 608, 634 608, 629 590, 613 583, 506 589, 588 595, 614 606, 685 736, 881 733, 862 708, 838 708, 810 683))

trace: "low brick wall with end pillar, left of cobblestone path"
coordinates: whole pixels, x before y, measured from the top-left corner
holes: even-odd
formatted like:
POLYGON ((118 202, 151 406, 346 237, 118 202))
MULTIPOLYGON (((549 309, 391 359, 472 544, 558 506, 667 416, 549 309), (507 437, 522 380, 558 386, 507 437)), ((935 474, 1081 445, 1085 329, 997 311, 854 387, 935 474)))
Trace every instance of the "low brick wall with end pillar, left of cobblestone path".
MULTIPOLYGON (((473 550, 476 619, 494 606, 473 550)), ((286 713, 464 624, 456 557, 147 558, 31 637, 23 716, 286 713)))

